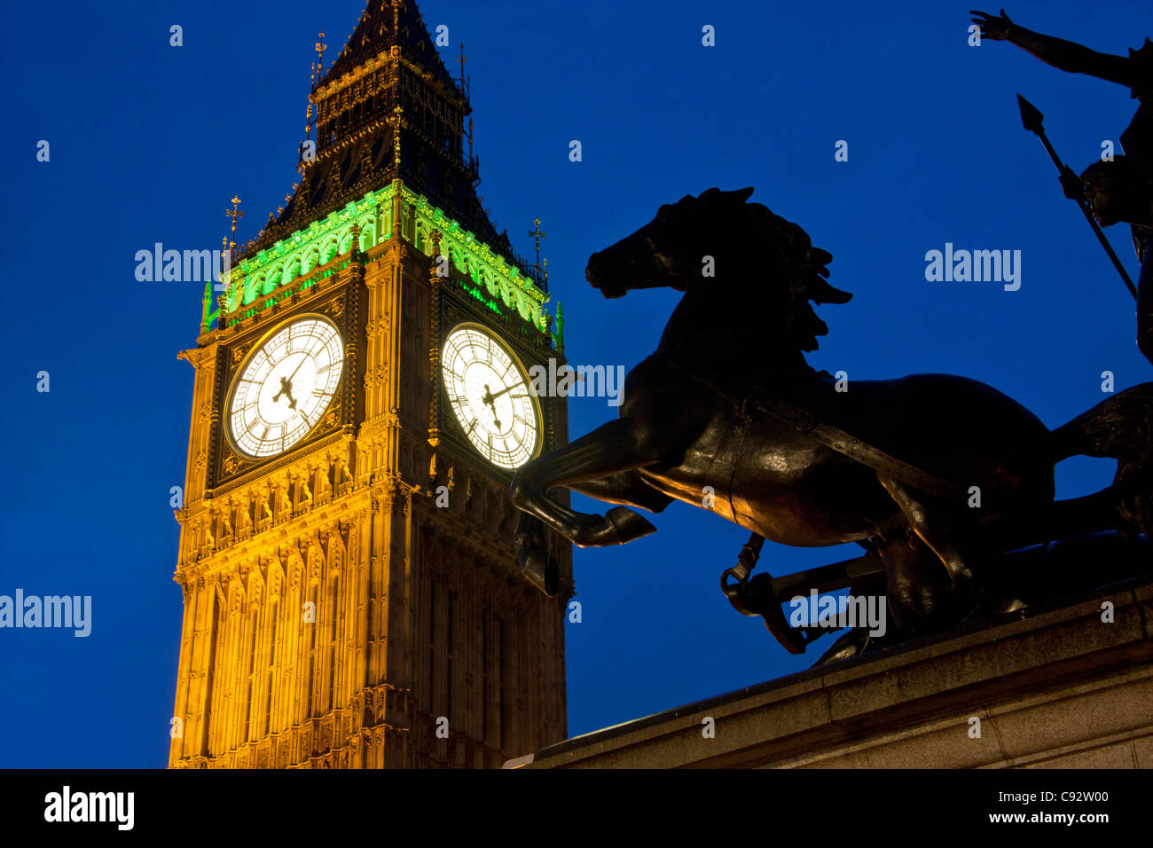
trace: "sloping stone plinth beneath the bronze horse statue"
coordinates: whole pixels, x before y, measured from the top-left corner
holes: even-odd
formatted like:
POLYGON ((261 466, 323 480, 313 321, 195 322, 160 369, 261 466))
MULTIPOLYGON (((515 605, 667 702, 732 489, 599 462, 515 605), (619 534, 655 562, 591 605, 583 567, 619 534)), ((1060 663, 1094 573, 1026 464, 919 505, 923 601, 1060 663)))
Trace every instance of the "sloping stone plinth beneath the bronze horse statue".
POLYGON ((1022 615, 578 736, 506 767, 1153 767, 1153 580, 1022 615), (702 736, 707 716, 714 738, 702 736))

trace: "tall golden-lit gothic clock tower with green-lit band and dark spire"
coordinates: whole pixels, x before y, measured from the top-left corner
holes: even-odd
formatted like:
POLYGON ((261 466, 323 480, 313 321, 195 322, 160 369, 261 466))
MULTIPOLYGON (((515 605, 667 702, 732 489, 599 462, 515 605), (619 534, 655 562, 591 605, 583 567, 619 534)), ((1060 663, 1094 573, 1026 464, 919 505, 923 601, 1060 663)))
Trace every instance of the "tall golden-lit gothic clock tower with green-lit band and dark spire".
POLYGON ((538 269, 477 201, 467 97, 413 0, 312 88, 315 157, 205 292, 175 579, 174 767, 493 767, 566 736, 512 471, 566 437, 538 269))

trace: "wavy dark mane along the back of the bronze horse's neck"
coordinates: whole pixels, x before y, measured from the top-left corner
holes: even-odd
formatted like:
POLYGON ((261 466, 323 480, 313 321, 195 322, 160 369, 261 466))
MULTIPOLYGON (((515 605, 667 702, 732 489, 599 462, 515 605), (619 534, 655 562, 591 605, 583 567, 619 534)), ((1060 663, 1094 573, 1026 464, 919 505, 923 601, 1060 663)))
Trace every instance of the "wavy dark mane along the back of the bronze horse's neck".
MULTIPOLYGON (((853 295, 826 282, 829 276, 826 265, 832 261, 832 254, 813 247, 801 226, 775 215, 762 203, 748 203, 752 194, 752 188, 734 192, 710 188, 698 200, 721 220, 731 220, 736 213, 748 219, 749 230, 758 237, 758 254, 769 254, 773 271, 764 278, 764 285, 773 287, 768 294, 770 301, 776 301, 774 312, 782 316, 781 331, 785 333, 785 342, 800 351, 815 351, 816 337, 828 335, 829 328, 816 316, 811 302, 817 306, 846 303, 853 295)), ((729 224, 725 226, 728 228, 729 224)), ((743 232, 741 227, 736 230, 743 232)), ((743 249, 749 248, 743 246, 743 249)))

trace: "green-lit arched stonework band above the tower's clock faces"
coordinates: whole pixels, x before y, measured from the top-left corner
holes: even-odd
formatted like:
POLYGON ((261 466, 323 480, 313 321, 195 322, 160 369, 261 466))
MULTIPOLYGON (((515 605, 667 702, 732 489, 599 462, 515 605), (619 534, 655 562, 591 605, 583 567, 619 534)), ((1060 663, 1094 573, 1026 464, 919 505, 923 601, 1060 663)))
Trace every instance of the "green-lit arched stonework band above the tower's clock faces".
MULTIPOLYGON (((225 275, 225 323, 231 327, 251 317, 346 268, 352 260, 339 268, 325 269, 321 275, 311 275, 316 268, 352 249, 354 225, 360 227, 357 248, 362 253, 397 235, 431 256, 430 235, 439 231, 440 253, 466 280, 472 280, 472 285, 460 282, 462 291, 497 315, 506 310, 517 313, 542 332, 549 332, 549 315, 544 309, 548 292, 399 180, 312 222, 255 256, 241 260, 225 275)), ((208 330, 220 317, 220 310, 211 309, 210 287, 205 287, 204 295, 202 323, 208 330)), ((563 344, 559 338, 557 340, 563 344)))

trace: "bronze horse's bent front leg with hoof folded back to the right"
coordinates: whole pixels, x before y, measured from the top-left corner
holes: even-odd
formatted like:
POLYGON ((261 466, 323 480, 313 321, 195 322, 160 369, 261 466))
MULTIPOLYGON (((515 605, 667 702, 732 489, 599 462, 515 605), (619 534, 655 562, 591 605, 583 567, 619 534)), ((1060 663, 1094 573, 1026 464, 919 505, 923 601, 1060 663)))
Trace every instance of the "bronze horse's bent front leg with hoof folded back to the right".
MULTIPOLYGON (((512 480, 512 501, 578 547, 624 545, 655 533, 656 527, 627 506, 615 506, 603 516, 576 512, 549 497, 549 489, 579 489, 575 483, 610 478, 655 460, 646 455, 628 419, 617 419, 522 465, 512 480)), ((595 491, 596 487, 589 488, 595 491)))

